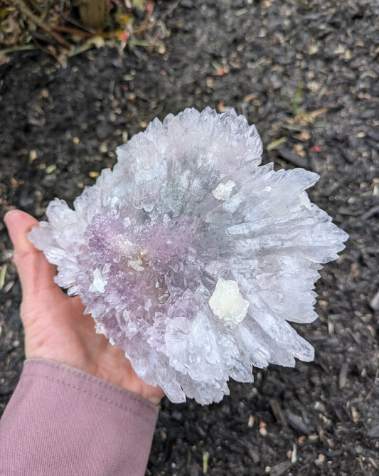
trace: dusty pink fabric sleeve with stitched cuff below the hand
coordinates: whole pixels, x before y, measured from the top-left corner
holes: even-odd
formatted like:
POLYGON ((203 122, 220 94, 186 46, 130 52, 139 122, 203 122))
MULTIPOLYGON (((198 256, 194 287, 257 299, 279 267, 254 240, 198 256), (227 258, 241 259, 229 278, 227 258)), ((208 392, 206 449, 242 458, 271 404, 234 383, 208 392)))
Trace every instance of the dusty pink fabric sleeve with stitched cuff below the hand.
POLYGON ((157 415, 85 372, 26 360, 0 420, 0 475, 144 475, 157 415))

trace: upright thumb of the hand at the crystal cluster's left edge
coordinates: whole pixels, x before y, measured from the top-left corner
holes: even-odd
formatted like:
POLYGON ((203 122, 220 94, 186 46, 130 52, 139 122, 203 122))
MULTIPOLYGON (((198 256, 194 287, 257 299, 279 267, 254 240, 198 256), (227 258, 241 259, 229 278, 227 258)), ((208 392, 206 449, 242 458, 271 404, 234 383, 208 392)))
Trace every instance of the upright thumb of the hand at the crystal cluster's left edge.
POLYGON ((14 244, 14 261, 23 288, 23 297, 28 298, 38 292, 62 291, 55 285, 55 266, 48 263, 42 251, 28 240, 27 233, 38 225, 33 216, 21 210, 12 210, 4 216, 6 227, 14 244))

